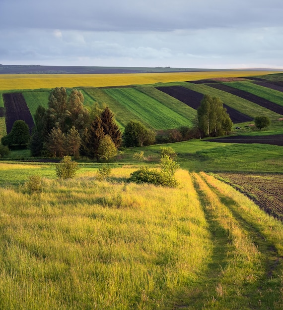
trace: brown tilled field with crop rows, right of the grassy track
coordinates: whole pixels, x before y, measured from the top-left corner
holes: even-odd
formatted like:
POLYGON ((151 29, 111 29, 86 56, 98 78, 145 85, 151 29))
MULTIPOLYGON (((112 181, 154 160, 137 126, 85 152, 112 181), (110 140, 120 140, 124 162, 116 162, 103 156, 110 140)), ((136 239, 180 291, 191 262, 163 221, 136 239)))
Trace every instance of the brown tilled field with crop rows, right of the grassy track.
POLYGON ((283 174, 219 173, 267 213, 283 220, 283 174))

